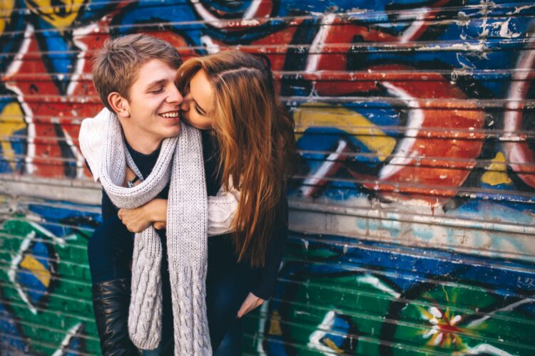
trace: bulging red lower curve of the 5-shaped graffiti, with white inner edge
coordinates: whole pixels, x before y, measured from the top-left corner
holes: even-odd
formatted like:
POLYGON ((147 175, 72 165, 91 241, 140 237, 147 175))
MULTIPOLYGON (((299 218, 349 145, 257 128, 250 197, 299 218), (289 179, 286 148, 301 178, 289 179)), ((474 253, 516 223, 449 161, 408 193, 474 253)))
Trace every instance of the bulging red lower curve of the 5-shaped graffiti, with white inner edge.
MULTIPOLYGON (((404 137, 377 179, 382 192, 397 190, 434 201, 457 194, 474 167, 484 142, 479 132, 484 112, 475 103, 461 101, 467 100, 462 90, 440 75, 429 73, 428 78, 380 83, 389 95, 404 101, 408 118, 404 137)), ((371 184, 365 187, 371 189, 371 184)))

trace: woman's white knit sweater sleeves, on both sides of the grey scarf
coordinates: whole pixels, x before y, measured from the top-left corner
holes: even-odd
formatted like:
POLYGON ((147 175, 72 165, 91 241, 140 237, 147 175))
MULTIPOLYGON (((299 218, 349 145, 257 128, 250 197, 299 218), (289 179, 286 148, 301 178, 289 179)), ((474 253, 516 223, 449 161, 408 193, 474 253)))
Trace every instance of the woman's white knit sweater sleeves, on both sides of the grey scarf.
MULTIPOLYGON (((96 117, 84 119, 78 135, 80 150, 91 169, 95 182, 98 182, 101 177, 103 140, 111 115, 113 113, 104 108, 96 117)), ((215 197, 208 197, 208 236, 227 234, 232 231, 230 225, 238 209, 239 199, 240 193, 232 186, 229 192, 223 192, 220 189, 215 197)))

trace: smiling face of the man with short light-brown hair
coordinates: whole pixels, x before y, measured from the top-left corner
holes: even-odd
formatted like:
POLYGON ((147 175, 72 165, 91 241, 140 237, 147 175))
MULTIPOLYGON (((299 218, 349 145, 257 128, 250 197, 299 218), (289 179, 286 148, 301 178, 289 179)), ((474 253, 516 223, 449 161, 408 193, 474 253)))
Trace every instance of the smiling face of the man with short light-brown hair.
POLYGON ((183 97, 175 86, 176 68, 151 59, 139 69, 128 100, 127 120, 122 120, 127 140, 161 141, 180 132, 178 108, 183 97))

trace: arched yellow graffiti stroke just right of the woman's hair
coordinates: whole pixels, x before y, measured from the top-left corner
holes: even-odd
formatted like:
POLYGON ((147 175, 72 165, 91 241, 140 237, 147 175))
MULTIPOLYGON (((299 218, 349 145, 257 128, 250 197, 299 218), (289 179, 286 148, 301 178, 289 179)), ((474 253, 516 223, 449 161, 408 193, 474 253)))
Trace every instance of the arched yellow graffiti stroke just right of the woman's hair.
MULTIPOLYGON (((355 135, 370 151, 384 161, 392 153, 396 145, 394 137, 389 137, 379 130, 373 122, 358 112, 333 107, 325 103, 305 103, 293 114, 296 127, 306 130, 308 127, 338 127, 350 135, 355 135)), ((297 135, 299 139, 300 135, 297 135)))

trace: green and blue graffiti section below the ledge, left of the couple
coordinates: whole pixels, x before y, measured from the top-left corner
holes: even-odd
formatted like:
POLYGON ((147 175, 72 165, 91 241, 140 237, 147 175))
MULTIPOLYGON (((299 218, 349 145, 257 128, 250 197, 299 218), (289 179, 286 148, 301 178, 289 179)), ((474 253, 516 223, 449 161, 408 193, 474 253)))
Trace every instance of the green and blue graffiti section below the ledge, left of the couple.
POLYGON ((86 252, 98 208, 25 201, 19 209, 0 229, 1 355, 98 355, 86 252))

